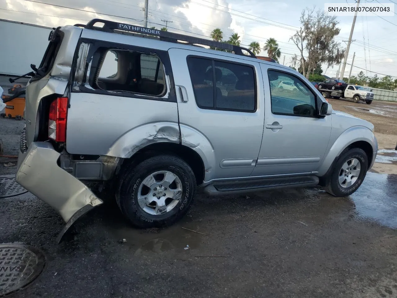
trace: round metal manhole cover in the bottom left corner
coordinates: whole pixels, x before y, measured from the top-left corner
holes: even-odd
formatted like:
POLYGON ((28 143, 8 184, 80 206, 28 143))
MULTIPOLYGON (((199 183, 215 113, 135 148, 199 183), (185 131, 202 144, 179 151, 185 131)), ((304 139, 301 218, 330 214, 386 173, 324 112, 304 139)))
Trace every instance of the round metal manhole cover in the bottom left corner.
POLYGON ((20 290, 39 276, 44 255, 25 244, 0 244, 0 297, 20 290))

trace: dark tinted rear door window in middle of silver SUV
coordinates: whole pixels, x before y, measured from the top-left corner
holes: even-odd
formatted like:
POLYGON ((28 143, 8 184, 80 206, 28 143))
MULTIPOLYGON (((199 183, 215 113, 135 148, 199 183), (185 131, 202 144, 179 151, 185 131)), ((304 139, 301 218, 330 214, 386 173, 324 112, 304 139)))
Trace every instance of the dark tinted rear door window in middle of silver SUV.
POLYGON ((205 58, 188 58, 188 68, 199 108, 254 112, 254 68, 205 58))

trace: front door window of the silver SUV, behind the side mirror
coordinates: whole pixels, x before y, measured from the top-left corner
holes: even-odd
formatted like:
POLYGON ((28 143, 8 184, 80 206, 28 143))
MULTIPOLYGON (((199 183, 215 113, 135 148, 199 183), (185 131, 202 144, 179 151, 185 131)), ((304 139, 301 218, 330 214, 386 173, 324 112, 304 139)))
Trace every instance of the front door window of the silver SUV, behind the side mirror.
POLYGON ((276 70, 269 70, 268 77, 273 114, 316 115, 316 96, 301 79, 295 75, 276 70), (285 86, 288 86, 288 88, 285 86))

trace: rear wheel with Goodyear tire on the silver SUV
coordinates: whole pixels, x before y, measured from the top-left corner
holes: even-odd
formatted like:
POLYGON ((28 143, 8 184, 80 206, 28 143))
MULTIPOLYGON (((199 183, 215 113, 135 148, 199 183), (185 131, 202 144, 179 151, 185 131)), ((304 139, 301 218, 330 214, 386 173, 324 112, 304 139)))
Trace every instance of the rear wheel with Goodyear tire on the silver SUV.
MULTIPOLYGON (((168 182, 163 181, 162 183, 168 186, 168 182)), ((189 164, 173 155, 157 155, 136 166, 126 167, 121 172, 116 201, 121 213, 134 226, 159 228, 170 226, 179 221, 191 207, 195 193, 196 178, 189 164), (148 176, 156 172, 160 174, 152 176, 156 178, 155 180, 150 178, 146 180, 148 176), (165 179, 165 174, 170 175, 169 177, 175 176, 175 180, 168 188, 159 184, 160 180, 165 179), (153 183, 153 187, 147 188, 143 184, 145 180, 146 184, 153 183), (161 193, 160 190, 162 190, 161 193), (145 194, 147 191, 149 193, 145 194), (175 196, 178 199, 173 199, 175 196), (145 201, 139 199, 142 197, 147 199, 145 201), (149 205, 148 201, 152 205, 149 205), (160 203, 162 206, 158 202, 162 202, 160 203)))

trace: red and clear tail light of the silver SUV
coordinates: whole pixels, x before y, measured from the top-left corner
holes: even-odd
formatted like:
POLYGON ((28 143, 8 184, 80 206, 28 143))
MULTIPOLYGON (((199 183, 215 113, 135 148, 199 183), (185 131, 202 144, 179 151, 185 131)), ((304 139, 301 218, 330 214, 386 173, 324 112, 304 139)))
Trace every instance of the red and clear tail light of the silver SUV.
POLYGON ((66 142, 67 97, 58 97, 50 105, 48 138, 66 142))

